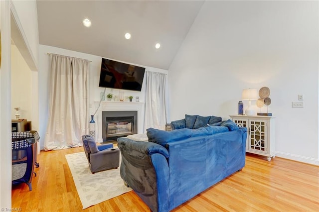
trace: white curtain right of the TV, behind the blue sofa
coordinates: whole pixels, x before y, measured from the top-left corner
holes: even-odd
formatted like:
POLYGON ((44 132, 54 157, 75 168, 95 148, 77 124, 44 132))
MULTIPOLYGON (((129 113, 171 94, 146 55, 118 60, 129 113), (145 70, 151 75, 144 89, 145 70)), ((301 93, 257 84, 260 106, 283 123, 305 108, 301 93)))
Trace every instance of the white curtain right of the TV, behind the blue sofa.
POLYGON ((166 120, 166 75, 147 71, 144 129, 165 129, 166 120))

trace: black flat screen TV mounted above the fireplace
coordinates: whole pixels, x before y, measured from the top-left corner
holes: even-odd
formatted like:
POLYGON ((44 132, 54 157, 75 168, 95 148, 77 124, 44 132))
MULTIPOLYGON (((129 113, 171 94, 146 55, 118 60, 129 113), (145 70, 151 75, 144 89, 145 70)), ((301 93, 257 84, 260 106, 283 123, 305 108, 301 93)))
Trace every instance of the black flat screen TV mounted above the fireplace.
POLYGON ((102 58, 99 87, 141 91, 145 68, 102 58))

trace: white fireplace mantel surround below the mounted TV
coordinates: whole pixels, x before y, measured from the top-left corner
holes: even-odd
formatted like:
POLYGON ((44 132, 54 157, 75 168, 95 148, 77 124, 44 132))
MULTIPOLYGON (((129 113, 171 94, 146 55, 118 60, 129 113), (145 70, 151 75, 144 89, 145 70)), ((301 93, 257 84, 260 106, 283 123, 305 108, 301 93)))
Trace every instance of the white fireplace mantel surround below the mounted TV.
MULTIPOLYGON (((95 108, 99 106, 100 102, 94 102, 95 108)), ((137 111, 138 112, 138 133, 144 132, 144 103, 140 102, 114 102, 102 101, 101 105, 94 117, 96 138, 99 143, 103 142, 102 138, 102 111, 137 111)))

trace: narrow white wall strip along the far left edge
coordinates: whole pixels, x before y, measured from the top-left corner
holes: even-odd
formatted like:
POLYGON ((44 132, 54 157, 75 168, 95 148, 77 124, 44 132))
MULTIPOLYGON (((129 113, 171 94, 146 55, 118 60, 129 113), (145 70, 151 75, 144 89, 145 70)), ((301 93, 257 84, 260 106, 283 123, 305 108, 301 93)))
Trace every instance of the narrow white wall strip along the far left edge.
POLYGON ((0 208, 11 208, 10 5, 0 1, 0 208))

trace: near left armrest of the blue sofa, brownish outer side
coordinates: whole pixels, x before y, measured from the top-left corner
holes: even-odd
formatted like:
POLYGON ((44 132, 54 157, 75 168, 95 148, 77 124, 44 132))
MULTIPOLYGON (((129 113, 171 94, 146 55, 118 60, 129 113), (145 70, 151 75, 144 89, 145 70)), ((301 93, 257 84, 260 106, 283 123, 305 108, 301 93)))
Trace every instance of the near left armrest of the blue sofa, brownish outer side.
POLYGON ((167 149, 157 143, 118 138, 121 178, 154 212, 168 211, 169 168, 167 149), (160 179, 160 180, 158 180, 160 179))

